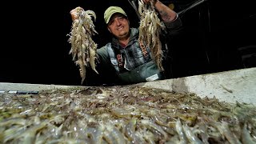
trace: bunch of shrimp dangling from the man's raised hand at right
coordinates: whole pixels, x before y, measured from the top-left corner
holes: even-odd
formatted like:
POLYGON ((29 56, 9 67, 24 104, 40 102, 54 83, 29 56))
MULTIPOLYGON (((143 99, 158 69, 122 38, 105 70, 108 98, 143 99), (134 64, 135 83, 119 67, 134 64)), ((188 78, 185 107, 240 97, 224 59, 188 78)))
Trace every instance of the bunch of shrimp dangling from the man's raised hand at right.
POLYGON ((152 57, 159 70, 164 70, 162 67, 162 42, 159 36, 161 31, 166 29, 166 26, 154 10, 154 0, 151 0, 149 4, 138 0, 138 13, 141 16, 138 41, 146 42, 146 46, 150 47, 152 57))

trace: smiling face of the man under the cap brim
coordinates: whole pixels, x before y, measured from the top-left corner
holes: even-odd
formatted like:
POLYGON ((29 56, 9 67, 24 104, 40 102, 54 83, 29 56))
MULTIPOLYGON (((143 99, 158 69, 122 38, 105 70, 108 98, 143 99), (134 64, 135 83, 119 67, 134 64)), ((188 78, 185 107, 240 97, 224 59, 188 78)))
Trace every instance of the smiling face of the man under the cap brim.
POLYGON ((118 39, 129 38, 129 20, 122 14, 113 14, 107 24, 108 30, 118 39))

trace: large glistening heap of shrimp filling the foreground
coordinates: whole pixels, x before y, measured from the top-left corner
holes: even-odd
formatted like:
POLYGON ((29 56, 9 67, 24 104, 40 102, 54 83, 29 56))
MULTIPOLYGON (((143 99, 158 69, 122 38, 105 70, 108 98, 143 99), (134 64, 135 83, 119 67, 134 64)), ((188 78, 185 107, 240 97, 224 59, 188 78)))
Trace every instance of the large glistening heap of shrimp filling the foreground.
POLYGON ((0 143, 255 143, 256 106, 141 86, 0 94, 0 143))

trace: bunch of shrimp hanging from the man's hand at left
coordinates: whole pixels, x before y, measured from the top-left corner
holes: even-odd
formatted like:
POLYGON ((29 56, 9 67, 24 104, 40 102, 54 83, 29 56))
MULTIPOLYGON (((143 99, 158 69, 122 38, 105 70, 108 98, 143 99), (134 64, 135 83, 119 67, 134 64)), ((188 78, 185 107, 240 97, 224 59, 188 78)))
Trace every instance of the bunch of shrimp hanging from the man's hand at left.
POLYGON ((72 22, 71 32, 68 34, 71 43, 69 54, 72 54, 72 60, 79 66, 80 76, 82 78, 81 85, 86 78, 86 66, 90 66, 97 74, 96 70, 96 50, 97 44, 93 41, 92 36, 98 34, 94 29, 94 21, 96 14, 92 10, 83 10, 82 7, 76 7, 78 11, 78 19, 72 22))

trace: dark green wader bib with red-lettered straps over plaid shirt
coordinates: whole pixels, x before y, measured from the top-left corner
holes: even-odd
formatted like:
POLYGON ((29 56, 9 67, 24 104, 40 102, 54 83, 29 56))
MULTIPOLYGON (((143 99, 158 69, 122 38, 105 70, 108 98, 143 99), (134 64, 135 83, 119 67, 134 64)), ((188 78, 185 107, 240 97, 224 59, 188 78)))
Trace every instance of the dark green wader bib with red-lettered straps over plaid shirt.
POLYGON ((136 40, 134 45, 137 45, 136 47, 140 48, 136 48, 135 53, 138 54, 138 60, 142 62, 142 65, 130 70, 129 67, 126 66, 127 60, 122 52, 117 48, 112 48, 110 42, 106 44, 106 49, 110 56, 110 62, 112 66, 114 66, 114 69, 118 74, 118 78, 125 83, 146 82, 162 79, 162 73, 158 70, 158 66, 151 58, 150 49, 146 48, 145 45, 142 42, 138 42, 138 40, 136 40))

